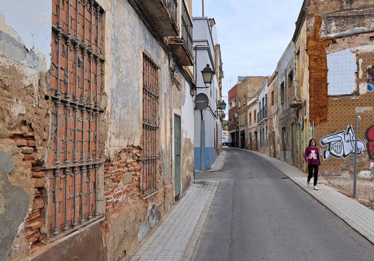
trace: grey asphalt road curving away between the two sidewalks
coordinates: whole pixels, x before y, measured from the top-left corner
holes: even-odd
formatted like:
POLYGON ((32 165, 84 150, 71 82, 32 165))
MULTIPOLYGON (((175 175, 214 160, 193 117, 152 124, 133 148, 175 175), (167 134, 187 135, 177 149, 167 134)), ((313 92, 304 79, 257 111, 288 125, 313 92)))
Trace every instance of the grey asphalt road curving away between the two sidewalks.
POLYGON ((268 161, 226 149, 219 180, 193 261, 374 260, 374 245, 268 161))

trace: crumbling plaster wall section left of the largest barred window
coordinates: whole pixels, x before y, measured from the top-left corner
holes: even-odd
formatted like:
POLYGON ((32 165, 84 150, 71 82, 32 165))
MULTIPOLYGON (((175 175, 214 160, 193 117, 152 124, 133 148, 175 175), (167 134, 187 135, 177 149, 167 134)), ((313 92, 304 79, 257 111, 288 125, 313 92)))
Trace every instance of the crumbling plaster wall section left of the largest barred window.
POLYGON ((51 5, 0 6, 0 260, 23 260, 30 253, 25 227, 36 207, 31 171, 45 159, 49 133, 51 5))

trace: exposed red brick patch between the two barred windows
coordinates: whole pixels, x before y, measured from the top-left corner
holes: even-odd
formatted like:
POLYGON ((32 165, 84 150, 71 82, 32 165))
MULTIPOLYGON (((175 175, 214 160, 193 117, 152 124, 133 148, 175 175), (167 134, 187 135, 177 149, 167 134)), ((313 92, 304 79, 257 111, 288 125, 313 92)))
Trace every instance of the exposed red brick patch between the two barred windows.
POLYGON ((106 213, 116 210, 125 199, 139 199, 141 150, 130 147, 118 154, 114 161, 104 164, 104 196, 106 213))

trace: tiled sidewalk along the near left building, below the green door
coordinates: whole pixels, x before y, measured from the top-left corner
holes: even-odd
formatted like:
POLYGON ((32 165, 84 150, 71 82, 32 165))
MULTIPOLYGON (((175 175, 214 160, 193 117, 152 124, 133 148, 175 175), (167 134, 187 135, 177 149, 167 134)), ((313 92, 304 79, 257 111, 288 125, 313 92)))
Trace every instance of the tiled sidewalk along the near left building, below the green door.
POLYGON ((209 197, 215 194, 217 187, 216 181, 195 182, 130 260, 179 261, 209 197))

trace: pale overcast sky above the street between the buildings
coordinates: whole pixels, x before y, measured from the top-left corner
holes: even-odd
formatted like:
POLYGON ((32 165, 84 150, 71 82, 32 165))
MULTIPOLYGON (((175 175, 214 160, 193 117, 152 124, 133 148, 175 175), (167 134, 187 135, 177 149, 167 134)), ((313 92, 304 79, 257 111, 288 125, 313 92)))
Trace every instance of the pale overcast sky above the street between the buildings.
MULTIPOLYGON (((303 0, 204 0, 204 16, 214 18, 221 44, 222 96, 237 76, 272 75, 292 40, 302 4, 303 0)), ((202 16, 201 0, 193 0, 192 9, 193 16, 202 16)), ((227 97, 224 100, 227 103, 227 97)))

